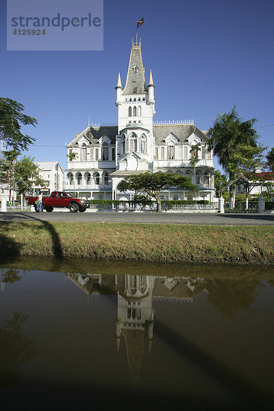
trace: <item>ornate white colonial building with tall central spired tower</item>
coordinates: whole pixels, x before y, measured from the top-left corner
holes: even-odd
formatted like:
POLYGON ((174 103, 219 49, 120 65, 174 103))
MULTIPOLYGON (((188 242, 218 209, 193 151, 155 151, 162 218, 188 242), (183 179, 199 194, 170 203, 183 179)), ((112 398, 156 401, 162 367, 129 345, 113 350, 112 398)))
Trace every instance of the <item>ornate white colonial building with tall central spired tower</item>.
POLYGON ((197 184, 200 191, 170 188, 162 199, 207 199, 213 201, 214 167, 208 151, 208 132, 193 121, 153 122, 155 97, 152 73, 145 83, 140 42, 132 42, 125 87, 120 73, 116 85, 118 125, 92 125, 71 141, 66 191, 75 191, 86 199, 125 199, 131 193, 120 193, 117 186, 127 175, 151 171, 179 173, 197 184), (192 145, 200 144, 199 162, 190 164, 192 145))

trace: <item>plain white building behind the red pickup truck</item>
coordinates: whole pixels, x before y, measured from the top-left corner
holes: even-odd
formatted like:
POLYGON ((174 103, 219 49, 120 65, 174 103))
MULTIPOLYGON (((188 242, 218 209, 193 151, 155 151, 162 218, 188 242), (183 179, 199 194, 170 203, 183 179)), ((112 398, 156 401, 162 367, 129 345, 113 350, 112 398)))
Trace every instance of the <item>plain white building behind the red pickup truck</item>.
POLYGON ((34 186, 35 190, 43 189, 43 191, 63 190, 64 171, 58 161, 42 161, 35 162, 38 166, 39 177, 47 182, 45 187, 34 186))

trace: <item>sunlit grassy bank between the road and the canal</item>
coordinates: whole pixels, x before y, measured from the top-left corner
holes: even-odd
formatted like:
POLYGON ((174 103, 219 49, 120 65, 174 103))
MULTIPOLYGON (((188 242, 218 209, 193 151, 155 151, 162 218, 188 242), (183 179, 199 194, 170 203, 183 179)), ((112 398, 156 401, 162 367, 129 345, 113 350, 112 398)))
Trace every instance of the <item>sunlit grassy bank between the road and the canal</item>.
POLYGON ((0 223, 0 254, 195 263, 274 263, 274 226, 0 223))

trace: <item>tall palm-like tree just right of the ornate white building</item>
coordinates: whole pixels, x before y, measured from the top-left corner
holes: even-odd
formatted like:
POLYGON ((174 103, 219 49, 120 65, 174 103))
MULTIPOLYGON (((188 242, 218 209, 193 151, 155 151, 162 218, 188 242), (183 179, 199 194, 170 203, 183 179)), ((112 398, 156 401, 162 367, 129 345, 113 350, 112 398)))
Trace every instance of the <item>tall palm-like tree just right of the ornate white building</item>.
MULTIPOLYGON (((232 181, 236 177, 233 169, 229 169, 229 162, 232 155, 235 154, 236 147, 241 145, 257 146, 258 134, 252 128, 256 123, 256 119, 241 121, 236 106, 225 114, 220 114, 214 121, 213 127, 210 128, 210 140, 208 149, 213 149, 213 154, 219 159, 219 164, 229 173, 229 180, 232 181)), ((234 207, 236 189, 235 186, 229 187, 229 202, 230 207, 234 207)))

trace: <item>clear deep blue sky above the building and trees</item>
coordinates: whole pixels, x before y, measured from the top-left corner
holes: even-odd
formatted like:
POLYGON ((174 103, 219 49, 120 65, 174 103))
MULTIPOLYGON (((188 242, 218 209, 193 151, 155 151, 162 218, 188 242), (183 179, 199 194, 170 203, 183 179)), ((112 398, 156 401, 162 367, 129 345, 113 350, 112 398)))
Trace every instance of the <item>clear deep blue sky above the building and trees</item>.
POLYGON ((24 129, 37 139, 26 153, 35 160, 58 160, 66 169, 64 145, 87 127, 88 116, 116 123, 114 87, 119 71, 125 84, 142 16, 155 120, 191 119, 194 112, 195 124, 208 129, 236 105, 242 119, 258 119, 260 142, 274 146, 272 0, 105 0, 103 51, 6 51, 5 1, 0 7, 1 97, 23 103, 38 120, 24 129))

